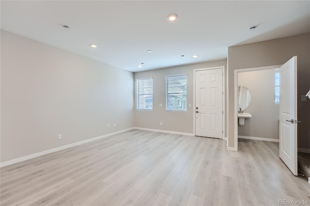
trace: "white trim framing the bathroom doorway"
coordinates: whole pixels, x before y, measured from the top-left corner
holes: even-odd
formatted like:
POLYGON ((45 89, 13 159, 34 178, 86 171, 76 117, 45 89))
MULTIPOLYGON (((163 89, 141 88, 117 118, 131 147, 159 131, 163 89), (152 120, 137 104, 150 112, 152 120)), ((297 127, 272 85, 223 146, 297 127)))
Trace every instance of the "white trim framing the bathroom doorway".
POLYGON ((250 72, 250 71, 259 71, 259 70, 270 70, 270 69, 279 69, 281 65, 273 65, 273 66, 263 66, 263 67, 252 67, 246 69, 236 69, 234 70, 234 101, 233 101, 233 119, 234 119, 234 147, 232 147, 233 151, 238 151, 238 97, 237 97, 237 89, 238 89, 238 73, 239 72, 250 72))

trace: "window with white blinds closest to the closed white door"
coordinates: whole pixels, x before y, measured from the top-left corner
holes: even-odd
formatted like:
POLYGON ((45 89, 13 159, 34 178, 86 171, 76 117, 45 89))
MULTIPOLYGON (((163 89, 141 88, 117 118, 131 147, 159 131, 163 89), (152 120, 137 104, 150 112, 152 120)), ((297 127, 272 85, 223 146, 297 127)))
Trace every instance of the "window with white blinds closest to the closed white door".
POLYGON ((166 111, 186 111, 186 74, 166 76, 166 111))

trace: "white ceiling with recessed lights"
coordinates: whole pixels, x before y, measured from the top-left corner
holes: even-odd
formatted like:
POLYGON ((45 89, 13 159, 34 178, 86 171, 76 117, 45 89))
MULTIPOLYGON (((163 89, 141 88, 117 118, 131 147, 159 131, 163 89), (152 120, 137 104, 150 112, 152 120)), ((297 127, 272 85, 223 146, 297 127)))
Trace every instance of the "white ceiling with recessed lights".
POLYGON ((232 45, 310 32, 309 0, 1 0, 0 6, 1 29, 132 72, 226 59, 232 45), (171 13, 176 22, 167 21, 171 13))

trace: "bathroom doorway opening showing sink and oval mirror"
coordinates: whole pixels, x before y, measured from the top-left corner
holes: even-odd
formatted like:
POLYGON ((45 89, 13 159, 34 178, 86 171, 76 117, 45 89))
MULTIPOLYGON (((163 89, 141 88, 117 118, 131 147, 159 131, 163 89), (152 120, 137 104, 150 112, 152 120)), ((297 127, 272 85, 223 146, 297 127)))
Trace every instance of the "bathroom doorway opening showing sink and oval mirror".
POLYGON ((238 73, 238 138, 279 142, 278 71, 238 73))

